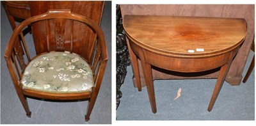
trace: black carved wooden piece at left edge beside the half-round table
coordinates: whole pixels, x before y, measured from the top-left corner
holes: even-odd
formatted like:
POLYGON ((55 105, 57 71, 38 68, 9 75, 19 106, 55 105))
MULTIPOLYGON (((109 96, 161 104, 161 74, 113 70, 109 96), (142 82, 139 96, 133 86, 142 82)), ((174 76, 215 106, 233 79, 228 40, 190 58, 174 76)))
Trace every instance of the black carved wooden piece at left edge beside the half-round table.
POLYGON ((122 97, 120 87, 124 83, 125 75, 127 73, 126 67, 131 64, 123 31, 124 28, 120 6, 116 5, 116 109, 118 108, 120 98, 122 97))

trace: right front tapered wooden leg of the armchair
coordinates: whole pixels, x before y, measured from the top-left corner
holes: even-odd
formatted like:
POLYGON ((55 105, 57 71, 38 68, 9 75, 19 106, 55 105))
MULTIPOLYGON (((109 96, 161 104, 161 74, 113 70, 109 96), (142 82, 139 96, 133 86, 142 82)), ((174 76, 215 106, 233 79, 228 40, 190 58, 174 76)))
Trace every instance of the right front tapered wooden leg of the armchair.
POLYGON ((88 122, 90 120, 90 115, 92 113, 92 109, 93 109, 93 106, 95 104, 95 101, 96 101, 96 98, 97 98, 97 95, 98 95, 98 92, 97 91, 94 91, 95 88, 92 89, 92 97, 88 100, 88 109, 87 109, 87 113, 85 115, 85 121, 88 122))

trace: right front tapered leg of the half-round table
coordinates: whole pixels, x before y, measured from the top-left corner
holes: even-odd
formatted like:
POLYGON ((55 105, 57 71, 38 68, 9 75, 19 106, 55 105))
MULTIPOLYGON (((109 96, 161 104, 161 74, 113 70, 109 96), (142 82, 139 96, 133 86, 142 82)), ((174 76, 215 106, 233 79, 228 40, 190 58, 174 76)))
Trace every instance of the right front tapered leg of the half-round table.
POLYGON ((214 106, 214 103, 220 93, 221 87, 222 87, 222 85, 225 81, 225 78, 227 76, 228 69, 230 68, 230 65, 231 65, 231 61, 229 63, 223 65, 220 68, 220 73, 218 75, 218 79, 217 79, 216 85, 215 85, 213 93, 212 93, 212 98, 211 98, 211 101, 210 101, 208 109, 207 109, 208 111, 211 111, 212 107, 214 106))

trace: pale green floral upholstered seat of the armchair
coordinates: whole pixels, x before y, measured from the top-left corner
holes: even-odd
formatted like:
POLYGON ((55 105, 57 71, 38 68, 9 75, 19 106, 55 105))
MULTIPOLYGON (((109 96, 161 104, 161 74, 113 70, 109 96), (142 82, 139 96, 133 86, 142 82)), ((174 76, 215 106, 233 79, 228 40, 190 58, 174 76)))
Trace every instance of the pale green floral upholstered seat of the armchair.
POLYGON ((33 59, 24 71, 23 88, 52 93, 91 91, 90 66, 77 54, 49 52, 33 59))

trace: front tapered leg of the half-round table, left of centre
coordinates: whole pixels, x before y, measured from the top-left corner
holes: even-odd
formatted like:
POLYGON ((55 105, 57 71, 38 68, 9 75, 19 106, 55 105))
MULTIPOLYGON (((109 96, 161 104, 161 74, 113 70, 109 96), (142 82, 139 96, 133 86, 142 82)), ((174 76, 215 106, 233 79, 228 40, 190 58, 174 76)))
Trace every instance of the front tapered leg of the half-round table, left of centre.
POLYGON ((141 66, 143 69, 143 74, 144 74, 146 85, 147 85, 148 98, 150 101, 151 109, 153 113, 156 113, 156 98, 154 93, 154 84, 153 84, 151 65, 141 60, 141 66))

